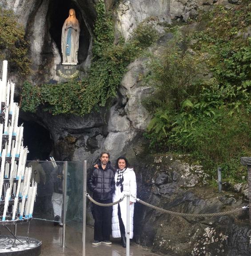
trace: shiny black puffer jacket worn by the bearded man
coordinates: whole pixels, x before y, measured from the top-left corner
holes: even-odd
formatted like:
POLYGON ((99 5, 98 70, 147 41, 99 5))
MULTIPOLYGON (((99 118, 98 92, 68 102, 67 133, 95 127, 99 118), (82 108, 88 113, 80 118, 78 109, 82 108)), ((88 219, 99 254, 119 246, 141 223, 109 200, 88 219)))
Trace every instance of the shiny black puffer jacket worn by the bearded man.
POLYGON ((93 192, 93 199, 107 200, 112 199, 115 190, 114 170, 110 161, 103 170, 101 164, 98 169, 94 169, 91 178, 88 180, 88 187, 93 192))

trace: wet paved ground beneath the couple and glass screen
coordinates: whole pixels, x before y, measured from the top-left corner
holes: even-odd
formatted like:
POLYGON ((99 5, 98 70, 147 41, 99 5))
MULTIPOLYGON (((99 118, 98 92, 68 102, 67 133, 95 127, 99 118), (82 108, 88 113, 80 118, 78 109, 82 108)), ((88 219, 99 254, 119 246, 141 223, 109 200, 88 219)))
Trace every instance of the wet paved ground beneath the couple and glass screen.
MULTIPOLYGON (((53 222, 32 220, 28 224, 18 224, 17 235, 29 236, 42 240, 40 256, 82 256, 82 234, 75 228, 67 226, 66 248, 62 248, 63 228, 54 226, 53 222)), ((5 232, 4 232, 5 233, 5 232)), ((120 245, 120 239, 112 239, 112 245, 100 244, 93 246, 93 228, 86 228, 86 256, 125 256, 126 250, 120 245)), ((141 246, 131 243, 131 256, 158 256, 141 246)))

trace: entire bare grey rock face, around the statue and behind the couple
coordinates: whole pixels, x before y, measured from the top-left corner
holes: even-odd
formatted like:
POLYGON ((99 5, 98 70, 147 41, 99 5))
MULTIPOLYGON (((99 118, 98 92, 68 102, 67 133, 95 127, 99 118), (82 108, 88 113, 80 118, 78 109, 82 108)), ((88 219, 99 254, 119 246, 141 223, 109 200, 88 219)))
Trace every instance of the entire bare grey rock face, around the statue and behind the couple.
MULTIPOLYGON (((8 0, 6 8, 12 8, 24 25, 31 41, 30 57, 33 84, 62 81, 57 69, 61 66, 61 28, 69 8, 75 8, 80 20, 80 50, 77 68, 81 76, 88 72, 92 56, 92 32, 96 12, 95 0, 8 0)), ((106 0, 109 9, 118 2, 106 0)), ((128 38, 143 20, 155 17, 160 23, 173 20, 187 21, 198 11, 209 10, 215 4, 236 3, 234 0, 123 0, 116 9, 116 28, 128 38)), ((161 30, 161 26, 159 27, 161 30)), ((166 34, 149 49, 161 54, 161 45, 170 40, 166 34)), ((199 166, 184 164, 171 156, 152 158, 144 154, 147 148, 142 137, 151 116, 143 106, 143 100, 154 92, 143 86, 140 77, 146 72, 147 59, 137 59, 128 66, 118 97, 112 106, 102 108, 84 117, 51 116, 38 111, 36 116, 21 113, 24 120, 33 120, 46 128, 53 142, 52 155, 56 160, 88 160, 88 167, 98 159, 100 152, 111 153, 114 163, 120 155, 129 158, 135 166, 138 197, 155 206, 175 212, 208 213, 239 207, 245 185, 236 192, 217 194, 203 188, 206 176, 199 166)), ((81 77, 80 76, 80 77, 81 77)), ((15 76, 13 80, 16 81, 15 76)), ((17 83, 18 84, 18 83, 17 83)), ((246 197, 244 197, 246 200, 246 197)), ((90 211, 89 211, 90 213, 90 211)), ((239 227, 237 221, 246 220, 244 212, 233 216, 210 219, 185 219, 135 205, 135 241, 149 246, 155 252, 179 256, 248 256, 251 253, 250 233, 247 221, 239 227)), ((88 223, 92 218, 88 216, 88 223)))

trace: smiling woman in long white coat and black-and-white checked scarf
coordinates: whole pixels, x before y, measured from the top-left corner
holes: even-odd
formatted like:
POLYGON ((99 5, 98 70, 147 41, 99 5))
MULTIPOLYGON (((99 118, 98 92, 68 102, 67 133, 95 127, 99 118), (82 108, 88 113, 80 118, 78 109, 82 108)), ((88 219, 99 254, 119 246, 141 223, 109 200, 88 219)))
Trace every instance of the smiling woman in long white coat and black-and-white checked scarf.
MULTIPOLYGON (((136 202, 136 177, 132 168, 128 168, 128 161, 124 156, 117 159, 115 172, 115 192, 112 201, 120 200, 126 194, 124 192, 124 184, 130 185, 130 238, 133 237, 133 213, 134 203, 136 202), (134 196, 134 197, 133 197, 134 196)), ((127 228, 127 200, 123 200, 119 204, 113 205, 112 211, 112 236, 121 237, 121 244, 126 247, 126 228, 127 228)))

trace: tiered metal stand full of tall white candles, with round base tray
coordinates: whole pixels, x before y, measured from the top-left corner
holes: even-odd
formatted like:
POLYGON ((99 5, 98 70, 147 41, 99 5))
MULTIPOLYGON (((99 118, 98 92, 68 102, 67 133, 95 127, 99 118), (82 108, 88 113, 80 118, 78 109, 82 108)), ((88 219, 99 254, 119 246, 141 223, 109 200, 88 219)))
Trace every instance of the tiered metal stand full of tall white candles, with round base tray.
POLYGON ((32 168, 25 168, 28 148, 22 143, 23 127, 17 125, 19 107, 13 100, 15 85, 7 83, 7 64, 4 60, 0 79, 0 228, 10 234, 0 231, 0 256, 38 256, 41 241, 16 236, 17 224, 30 225, 37 184, 30 186, 32 168))

